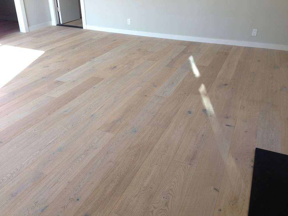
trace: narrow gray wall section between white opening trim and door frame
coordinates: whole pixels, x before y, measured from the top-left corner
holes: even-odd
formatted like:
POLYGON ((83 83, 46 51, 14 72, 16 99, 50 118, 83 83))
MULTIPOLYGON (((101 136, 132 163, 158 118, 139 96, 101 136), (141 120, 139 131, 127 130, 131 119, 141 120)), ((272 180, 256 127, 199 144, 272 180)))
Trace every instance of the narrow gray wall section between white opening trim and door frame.
POLYGON ((51 22, 48 0, 24 0, 28 26, 51 22))

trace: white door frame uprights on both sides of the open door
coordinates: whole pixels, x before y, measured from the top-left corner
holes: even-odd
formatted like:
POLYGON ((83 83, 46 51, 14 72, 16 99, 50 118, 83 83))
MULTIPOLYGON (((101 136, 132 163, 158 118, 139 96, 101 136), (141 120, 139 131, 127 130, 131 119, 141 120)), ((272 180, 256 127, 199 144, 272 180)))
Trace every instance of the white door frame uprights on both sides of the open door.
MULTIPOLYGON (((60 24, 58 12, 57 12, 57 0, 48 0, 48 2, 49 2, 52 25, 56 26, 57 24, 60 24)), ((81 7, 83 29, 87 29, 84 0, 80 0, 80 7, 81 7)))

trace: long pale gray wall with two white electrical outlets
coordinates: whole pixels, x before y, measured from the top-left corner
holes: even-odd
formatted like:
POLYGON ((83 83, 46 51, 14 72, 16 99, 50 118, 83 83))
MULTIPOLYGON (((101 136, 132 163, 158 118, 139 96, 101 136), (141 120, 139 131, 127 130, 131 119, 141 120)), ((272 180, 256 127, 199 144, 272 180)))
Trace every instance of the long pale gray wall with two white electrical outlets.
POLYGON ((90 26, 288 45, 287 0, 85 0, 85 10, 90 26))

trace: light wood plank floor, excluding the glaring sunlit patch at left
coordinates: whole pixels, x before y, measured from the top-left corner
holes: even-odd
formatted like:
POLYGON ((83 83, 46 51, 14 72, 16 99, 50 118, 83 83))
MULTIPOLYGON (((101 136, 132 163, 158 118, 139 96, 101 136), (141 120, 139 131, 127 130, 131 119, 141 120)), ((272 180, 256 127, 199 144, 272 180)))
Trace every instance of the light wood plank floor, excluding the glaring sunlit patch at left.
POLYGON ((288 154, 288 52, 62 26, 0 44, 45 51, 0 89, 0 215, 247 215, 255 147, 288 154))

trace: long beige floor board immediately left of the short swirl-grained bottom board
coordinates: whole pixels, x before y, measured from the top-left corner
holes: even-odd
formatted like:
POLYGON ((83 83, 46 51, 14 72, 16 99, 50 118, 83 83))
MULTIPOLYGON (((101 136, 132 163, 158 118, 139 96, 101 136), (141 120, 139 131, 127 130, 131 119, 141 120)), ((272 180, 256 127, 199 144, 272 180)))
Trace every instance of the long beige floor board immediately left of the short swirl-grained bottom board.
POLYGON ((112 212, 119 215, 143 215, 145 213, 172 162, 179 143, 187 132, 187 126, 195 117, 195 110, 199 109, 199 102, 199 95, 189 95, 185 100, 112 212), (143 167, 150 168, 143 169, 143 167))

